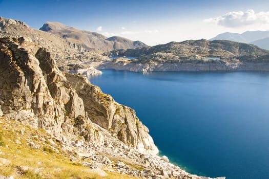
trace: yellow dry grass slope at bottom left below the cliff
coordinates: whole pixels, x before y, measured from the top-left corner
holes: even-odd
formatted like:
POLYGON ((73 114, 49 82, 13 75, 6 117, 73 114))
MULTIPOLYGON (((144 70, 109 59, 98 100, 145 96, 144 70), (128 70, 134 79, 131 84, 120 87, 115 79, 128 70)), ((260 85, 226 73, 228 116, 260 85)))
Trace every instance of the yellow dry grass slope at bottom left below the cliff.
MULTIPOLYGON (((0 175, 13 176, 14 178, 134 178, 128 175, 120 175, 106 171, 108 176, 101 177, 96 173, 84 171, 89 169, 82 166, 79 161, 72 162, 69 155, 60 153, 57 150, 57 143, 49 146, 46 142, 38 140, 44 138, 49 140, 49 135, 44 130, 33 129, 16 121, 0 118, 0 158, 11 161, 8 166, 0 166, 0 175), (20 130, 24 129, 24 135, 20 130), (34 140, 33 136, 37 136, 34 140), (17 144, 19 141, 21 144, 17 144), (34 141, 40 145, 38 149, 31 149, 27 143, 34 141), (29 167, 23 170, 23 167, 29 167)), ((50 139, 51 140, 51 139, 50 139)))

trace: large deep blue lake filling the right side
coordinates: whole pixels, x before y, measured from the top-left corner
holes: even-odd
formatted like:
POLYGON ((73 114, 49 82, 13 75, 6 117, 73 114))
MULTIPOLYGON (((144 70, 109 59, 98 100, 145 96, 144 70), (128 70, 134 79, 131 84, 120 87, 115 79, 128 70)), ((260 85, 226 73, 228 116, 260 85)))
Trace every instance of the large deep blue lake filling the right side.
POLYGON ((269 178, 269 73, 102 72, 90 81, 134 108, 172 162, 204 176, 269 178))

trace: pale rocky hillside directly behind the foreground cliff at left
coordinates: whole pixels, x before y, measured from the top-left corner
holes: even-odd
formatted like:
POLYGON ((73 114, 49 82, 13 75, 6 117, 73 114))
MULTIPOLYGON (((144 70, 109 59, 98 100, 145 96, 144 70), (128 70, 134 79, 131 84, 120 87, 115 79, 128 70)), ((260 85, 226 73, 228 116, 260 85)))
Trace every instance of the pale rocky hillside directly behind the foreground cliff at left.
POLYGON ((96 52, 88 52, 79 44, 60 38, 48 32, 31 28, 23 21, 0 17, 0 37, 15 37, 18 40, 34 42, 35 48, 44 47, 48 49, 53 59, 56 60, 60 70, 85 69, 87 75, 99 74, 85 64, 89 60, 109 60, 96 52))

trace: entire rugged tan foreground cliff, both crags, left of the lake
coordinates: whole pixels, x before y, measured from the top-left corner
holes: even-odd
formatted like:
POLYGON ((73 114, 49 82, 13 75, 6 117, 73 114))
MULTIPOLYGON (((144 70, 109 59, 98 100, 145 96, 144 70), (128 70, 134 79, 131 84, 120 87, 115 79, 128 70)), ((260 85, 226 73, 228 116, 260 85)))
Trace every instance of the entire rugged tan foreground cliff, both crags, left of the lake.
MULTIPOLYGON (((44 128, 55 136, 77 135, 101 144, 101 130, 139 151, 157 153, 149 130, 135 111, 90 84, 85 77, 61 73, 44 48, 27 49, 33 42, 0 38, 0 104, 10 119, 44 128)), ((67 141, 64 139, 63 141, 67 141)))

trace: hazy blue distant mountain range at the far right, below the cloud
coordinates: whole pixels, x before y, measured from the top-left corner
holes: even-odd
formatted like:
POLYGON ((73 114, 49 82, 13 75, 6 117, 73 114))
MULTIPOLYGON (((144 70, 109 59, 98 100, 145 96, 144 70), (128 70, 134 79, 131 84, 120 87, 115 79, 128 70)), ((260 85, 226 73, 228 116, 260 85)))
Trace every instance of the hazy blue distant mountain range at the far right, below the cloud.
POLYGON ((246 31, 242 34, 225 32, 210 40, 231 40, 252 43, 260 48, 269 50, 269 31, 246 31))

